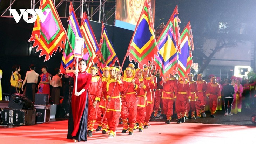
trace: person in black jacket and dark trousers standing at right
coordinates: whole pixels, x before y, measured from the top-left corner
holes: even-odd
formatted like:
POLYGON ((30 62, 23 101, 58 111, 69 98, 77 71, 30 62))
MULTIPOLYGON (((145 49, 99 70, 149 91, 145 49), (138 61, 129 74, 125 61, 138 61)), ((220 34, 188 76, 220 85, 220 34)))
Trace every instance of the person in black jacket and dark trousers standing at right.
POLYGON ((223 87, 223 97, 224 97, 224 107, 225 107, 225 116, 232 116, 231 109, 233 103, 233 94, 235 94, 235 89, 233 85, 230 84, 231 80, 228 80, 228 84, 223 87), (229 102, 229 108, 228 108, 229 102))

